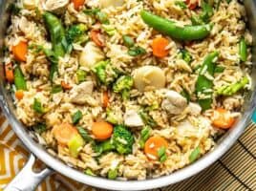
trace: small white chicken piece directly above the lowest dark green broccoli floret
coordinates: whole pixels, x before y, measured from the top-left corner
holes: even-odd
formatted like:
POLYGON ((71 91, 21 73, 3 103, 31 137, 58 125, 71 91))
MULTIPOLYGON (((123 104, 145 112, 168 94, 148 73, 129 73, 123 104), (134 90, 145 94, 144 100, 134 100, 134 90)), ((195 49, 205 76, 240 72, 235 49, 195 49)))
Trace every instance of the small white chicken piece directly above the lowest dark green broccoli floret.
POLYGON ((128 110, 124 114, 124 124, 128 127, 140 127, 144 125, 141 117, 139 117, 139 114, 134 110, 128 110))

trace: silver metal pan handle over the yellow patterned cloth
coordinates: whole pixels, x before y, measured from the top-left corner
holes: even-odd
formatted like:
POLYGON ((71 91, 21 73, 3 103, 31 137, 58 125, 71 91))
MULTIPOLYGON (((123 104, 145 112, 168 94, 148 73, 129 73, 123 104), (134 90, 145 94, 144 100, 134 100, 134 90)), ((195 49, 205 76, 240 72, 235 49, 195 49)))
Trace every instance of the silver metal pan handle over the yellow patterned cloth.
POLYGON ((35 157, 31 154, 29 160, 19 172, 19 174, 11 180, 4 191, 32 191, 35 190, 38 184, 53 173, 53 170, 45 168, 40 173, 34 173, 32 166, 35 157))

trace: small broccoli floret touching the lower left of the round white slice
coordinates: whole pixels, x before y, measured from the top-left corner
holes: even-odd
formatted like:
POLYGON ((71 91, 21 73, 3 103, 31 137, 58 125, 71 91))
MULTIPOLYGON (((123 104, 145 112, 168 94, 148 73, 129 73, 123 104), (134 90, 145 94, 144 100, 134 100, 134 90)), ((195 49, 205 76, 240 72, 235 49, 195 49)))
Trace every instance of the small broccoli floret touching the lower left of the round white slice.
POLYGON ((115 93, 121 94, 123 99, 127 99, 130 96, 129 92, 132 89, 133 85, 133 77, 129 75, 122 75, 117 79, 116 83, 114 84, 113 91, 115 93))

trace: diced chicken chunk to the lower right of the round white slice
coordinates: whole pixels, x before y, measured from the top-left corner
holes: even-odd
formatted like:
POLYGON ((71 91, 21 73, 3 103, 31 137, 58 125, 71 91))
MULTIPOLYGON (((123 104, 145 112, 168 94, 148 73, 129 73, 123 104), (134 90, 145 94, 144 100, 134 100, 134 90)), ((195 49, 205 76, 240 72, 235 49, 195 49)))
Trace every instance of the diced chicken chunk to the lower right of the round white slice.
POLYGON ((186 99, 175 91, 167 91, 161 102, 161 108, 174 115, 181 114, 186 106, 186 99))

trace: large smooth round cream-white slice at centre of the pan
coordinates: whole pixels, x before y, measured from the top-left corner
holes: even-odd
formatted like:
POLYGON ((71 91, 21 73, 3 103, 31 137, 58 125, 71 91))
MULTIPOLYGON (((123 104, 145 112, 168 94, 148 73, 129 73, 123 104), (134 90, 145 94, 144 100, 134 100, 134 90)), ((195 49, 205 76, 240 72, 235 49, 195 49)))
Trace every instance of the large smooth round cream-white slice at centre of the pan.
POLYGON ((143 66, 134 73, 135 87, 139 92, 147 89, 161 89, 165 86, 164 72, 156 66, 143 66))

